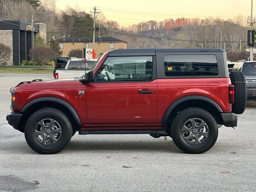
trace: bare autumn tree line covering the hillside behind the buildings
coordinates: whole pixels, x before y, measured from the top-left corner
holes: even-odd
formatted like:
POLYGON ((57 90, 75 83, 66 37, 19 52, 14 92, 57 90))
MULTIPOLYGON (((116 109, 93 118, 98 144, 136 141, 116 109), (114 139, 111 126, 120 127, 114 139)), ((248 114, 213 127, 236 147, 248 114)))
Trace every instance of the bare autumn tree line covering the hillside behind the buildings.
MULTIPOLYGON (((0 18, 44 22, 47 41, 75 36, 92 36, 92 9, 67 6, 59 10, 56 0, 0 0, 0 18)), ((166 18, 120 26, 107 20, 103 11, 96 17, 96 35, 112 36, 128 42, 128 48, 222 48, 241 52, 247 48, 248 25, 244 16, 235 18, 166 18)))

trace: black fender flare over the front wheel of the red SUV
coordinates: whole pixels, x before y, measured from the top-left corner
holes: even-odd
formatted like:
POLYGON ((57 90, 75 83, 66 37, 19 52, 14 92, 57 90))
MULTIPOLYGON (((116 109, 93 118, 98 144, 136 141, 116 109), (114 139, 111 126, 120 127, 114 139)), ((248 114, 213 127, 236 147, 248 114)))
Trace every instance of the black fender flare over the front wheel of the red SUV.
POLYGON ((36 98, 30 102, 28 102, 21 110, 20 112, 25 112, 26 109, 28 109, 30 106, 32 106, 33 104, 36 104, 38 102, 44 102, 44 101, 52 101, 52 102, 57 102, 59 104, 62 104, 63 106, 65 106, 66 108, 68 108, 68 110, 71 112, 71 114, 74 116, 74 119, 76 120, 76 123, 81 125, 81 121, 80 118, 76 112, 76 110, 66 101, 64 101, 63 99, 60 98, 55 98, 55 97, 40 97, 40 98, 36 98))

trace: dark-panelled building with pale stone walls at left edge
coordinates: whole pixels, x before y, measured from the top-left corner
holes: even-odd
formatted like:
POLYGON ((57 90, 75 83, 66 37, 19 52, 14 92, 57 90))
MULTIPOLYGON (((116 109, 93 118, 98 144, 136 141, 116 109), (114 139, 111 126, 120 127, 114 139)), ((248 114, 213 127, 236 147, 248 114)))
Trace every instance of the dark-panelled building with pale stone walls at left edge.
POLYGON ((40 36, 46 42, 46 24, 34 22, 33 35, 32 31, 31 22, 0 20, 0 42, 12 50, 12 56, 6 60, 8 65, 20 65, 22 60, 29 60, 33 36, 40 36))

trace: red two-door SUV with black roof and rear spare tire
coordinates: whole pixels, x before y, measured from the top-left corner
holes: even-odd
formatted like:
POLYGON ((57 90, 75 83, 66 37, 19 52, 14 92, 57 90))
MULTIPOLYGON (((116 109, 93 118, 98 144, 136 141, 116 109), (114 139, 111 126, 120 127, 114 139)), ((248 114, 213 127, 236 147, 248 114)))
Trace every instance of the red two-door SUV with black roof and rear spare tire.
POLYGON ((186 153, 212 148, 246 106, 246 81, 222 49, 106 52, 81 78, 21 82, 6 119, 40 154, 79 134, 170 136, 186 153))

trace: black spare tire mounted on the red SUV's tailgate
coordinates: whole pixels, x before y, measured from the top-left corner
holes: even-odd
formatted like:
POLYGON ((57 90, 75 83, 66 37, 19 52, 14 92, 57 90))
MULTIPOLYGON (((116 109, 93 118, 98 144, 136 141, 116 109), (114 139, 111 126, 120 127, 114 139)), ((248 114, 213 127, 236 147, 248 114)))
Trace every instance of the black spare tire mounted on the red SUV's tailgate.
POLYGON ((244 74, 240 71, 232 71, 229 76, 235 90, 232 112, 235 114, 242 114, 245 110, 247 101, 246 79, 244 74))

